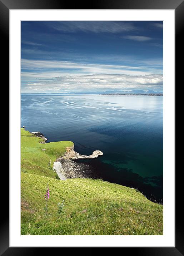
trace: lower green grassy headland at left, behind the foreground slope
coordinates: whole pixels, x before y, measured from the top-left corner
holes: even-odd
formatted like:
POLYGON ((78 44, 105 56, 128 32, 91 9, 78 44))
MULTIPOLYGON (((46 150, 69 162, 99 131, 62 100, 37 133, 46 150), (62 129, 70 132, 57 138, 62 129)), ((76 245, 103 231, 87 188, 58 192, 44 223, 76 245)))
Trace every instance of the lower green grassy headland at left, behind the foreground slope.
POLYGON ((71 141, 39 143, 43 139, 21 128, 21 171, 54 178, 53 163, 62 156, 66 147, 73 146, 71 141), (45 149, 45 151, 42 151, 45 149))

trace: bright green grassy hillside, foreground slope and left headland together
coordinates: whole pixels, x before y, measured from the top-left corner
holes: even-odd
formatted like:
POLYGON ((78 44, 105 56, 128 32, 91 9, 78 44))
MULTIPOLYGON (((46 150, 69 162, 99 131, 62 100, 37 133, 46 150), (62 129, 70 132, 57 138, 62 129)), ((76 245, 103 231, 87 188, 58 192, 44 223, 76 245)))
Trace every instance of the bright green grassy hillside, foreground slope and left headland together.
POLYGON ((21 235, 163 235, 163 206, 139 191, 99 179, 55 179, 49 167, 72 142, 40 144, 24 130, 21 139, 21 235))

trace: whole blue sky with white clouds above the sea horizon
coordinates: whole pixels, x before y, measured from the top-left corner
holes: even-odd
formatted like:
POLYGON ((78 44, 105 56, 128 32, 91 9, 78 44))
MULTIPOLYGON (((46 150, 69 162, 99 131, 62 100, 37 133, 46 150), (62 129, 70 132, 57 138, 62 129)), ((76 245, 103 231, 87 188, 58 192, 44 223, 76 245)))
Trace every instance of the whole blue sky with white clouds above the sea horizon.
POLYGON ((21 92, 163 92, 163 21, 21 21, 21 92))

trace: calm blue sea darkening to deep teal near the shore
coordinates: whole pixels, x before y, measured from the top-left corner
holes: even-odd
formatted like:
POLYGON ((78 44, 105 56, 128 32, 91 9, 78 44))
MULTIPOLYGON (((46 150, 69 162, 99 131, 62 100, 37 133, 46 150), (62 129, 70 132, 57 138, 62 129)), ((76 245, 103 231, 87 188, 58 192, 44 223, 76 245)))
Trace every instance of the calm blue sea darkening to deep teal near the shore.
POLYGON ((22 94, 23 125, 80 154, 101 150, 88 160, 101 178, 163 199, 163 97, 22 94))

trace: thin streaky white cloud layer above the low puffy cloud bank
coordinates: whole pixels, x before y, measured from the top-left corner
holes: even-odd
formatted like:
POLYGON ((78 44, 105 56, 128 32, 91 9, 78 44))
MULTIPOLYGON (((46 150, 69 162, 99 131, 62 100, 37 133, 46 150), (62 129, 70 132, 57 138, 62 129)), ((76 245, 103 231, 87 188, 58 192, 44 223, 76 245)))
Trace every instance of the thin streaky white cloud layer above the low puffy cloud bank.
MULTIPOLYGON (((135 61, 135 60, 134 60, 135 61)), ((110 65, 80 63, 56 60, 21 60, 21 80, 34 81, 38 79, 53 79, 53 77, 71 75, 119 74, 119 75, 149 75, 162 73, 162 63, 159 60, 139 60, 139 64, 110 65), (152 66, 151 66, 152 65, 152 66), (157 67, 157 68, 155 68, 157 67)))

